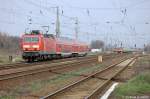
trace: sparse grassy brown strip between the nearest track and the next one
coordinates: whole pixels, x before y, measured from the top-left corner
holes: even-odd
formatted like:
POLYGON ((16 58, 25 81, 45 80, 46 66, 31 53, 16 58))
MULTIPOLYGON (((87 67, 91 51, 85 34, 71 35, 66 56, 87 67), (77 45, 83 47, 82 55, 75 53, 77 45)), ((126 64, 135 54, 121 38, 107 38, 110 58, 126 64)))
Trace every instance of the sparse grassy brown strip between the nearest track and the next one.
MULTIPOLYGON (((81 77, 78 77, 78 75, 89 74, 98 71, 99 69, 104 68, 104 66, 109 66, 110 64, 112 64, 112 62, 121 60, 121 58, 119 57, 118 59, 117 57, 116 59, 114 58, 111 61, 108 59, 106 61, 103 61, 103 63, 98 63, 98 64, 93 63, 90 64, 89 66, 87 64, 82 67, 79 65, 74 67, 75 69, 73 68, 71 68, 71 70, 67 69, 66 71, 68 72, 65 72, 64 75, 49 74, 48 76, 44 74, 45 76, 48 76, 48 78, 46 78, 45 80, 42 79, 43 78, 42 76, 40 76, 39 80, 35 80, 31 83, 28 83, 29 82, 28 80, 27 83, 22 86, 18 86, 14 89, 11 87, 12 91, 6 90, 7 91, 6 93, 4 93, 5 91, 3 92, 1 91, 1 95, 3 95, 3 98, 9 98, 10 95, 12 96, 11 98, 13 98, 13 96, 19 96, 19 95, 22 95, 23 97, 28 95, 31 96, 32 98, 33 96, 38 97, 39 95, 45 95, 50 92, 50 89, 53 92, 55 90, 62 88, 63 86, 66 86, 67 84, 72 83, 73 81, 76 81, 79 78, 81 79, 81 77)), ((23 81, 25 82, 26 79, 24 79, 23 81)), ((18 82, 20 82, 20 80, 18 82)))

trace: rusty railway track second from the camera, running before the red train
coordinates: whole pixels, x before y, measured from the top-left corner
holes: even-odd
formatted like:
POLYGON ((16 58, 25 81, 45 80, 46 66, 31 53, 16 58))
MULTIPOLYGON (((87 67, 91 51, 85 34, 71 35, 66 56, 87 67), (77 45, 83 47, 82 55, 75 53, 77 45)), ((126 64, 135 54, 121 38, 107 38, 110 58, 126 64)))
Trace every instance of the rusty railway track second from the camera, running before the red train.
POLYGON ((46 71, 55 71, 61 70, 65 68, 70 68, 75 65, 81 65, 86 63, 96 62, 96 57, 88 57, 86 59, 80 60, 73 60, 73 61, 65 61, 59 63, 51 63, 51 64, 44 64, 44 65, 36 65, 30 67, 23 67, 23 68, 15 68, 15 69, 8 69, 8 70, 1 70, 0 71, 0 81, 14 79, 18 77, 38 74, 46 71))

